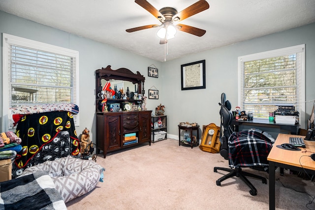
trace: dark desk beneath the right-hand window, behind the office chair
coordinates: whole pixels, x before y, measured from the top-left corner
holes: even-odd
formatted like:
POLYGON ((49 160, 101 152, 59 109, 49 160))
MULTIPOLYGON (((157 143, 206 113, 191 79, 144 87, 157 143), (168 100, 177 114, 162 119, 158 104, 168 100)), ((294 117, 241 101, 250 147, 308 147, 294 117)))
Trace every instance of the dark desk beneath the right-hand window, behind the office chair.
POLYGON ((261 126, 261 127, 276 127, 280 128, 281 130, 287 130, 290 132, 290 134, 297 134, 299 125, 287 125, 287 124, 277 124, 276 122, 270 122, 269 120, 259 120, 259 119, 253 119, 253 120, 233 120, 231 125, 235 126, 235 131, 239 131, 240 125, 251 125, 251 126, 261 126))

